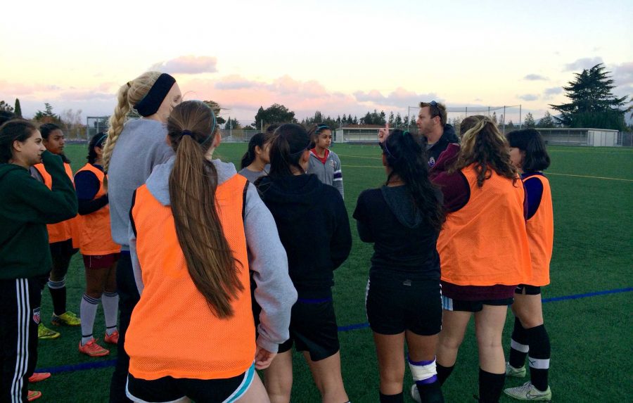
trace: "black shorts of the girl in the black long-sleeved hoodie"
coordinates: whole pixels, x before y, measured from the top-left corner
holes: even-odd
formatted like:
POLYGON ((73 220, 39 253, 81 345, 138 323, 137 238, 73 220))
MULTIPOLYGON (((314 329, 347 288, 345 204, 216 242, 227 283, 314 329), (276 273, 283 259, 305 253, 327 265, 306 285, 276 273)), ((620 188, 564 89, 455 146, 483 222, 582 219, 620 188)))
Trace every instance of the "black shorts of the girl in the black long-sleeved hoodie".
POLYGON ((279 345, 279 353, 293 347, 307 351, 312 361, 326 359, 340 350, 334 302, 299 298, 290 313, 290 339, 279 345))

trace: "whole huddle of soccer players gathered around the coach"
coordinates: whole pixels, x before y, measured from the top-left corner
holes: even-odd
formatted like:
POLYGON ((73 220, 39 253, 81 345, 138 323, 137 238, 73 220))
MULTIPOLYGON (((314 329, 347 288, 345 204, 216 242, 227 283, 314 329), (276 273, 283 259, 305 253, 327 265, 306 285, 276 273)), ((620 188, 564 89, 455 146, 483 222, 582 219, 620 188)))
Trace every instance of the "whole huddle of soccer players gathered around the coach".
MULTIPOLYGON (((38 339, 59 336, 41 316, 46 286, 51 323, 81 326, 80 353, 117 349, 110 402, 288 403, 293 345, 324 403, 353 399, 332 292, 352 250, 332 130, 273 124, 252 136, 237 172, 213 158, 218 113, 182 101, 172 76, 146 72, 120 88, 108 132, 89 140, 74 175, 60 127, 2 117, 0 402, 37 399, 29 383, 50 376, 34 372, 38 339), (141 118, 128 119, 132 110, 141 118), (65 290, 77 251, 79 317, 65 290), (94 337, 100 302, 103 342, 94 337)), ((478 401, 505 392, 549 402, 540 287, 554 224, 544 141, 534 129, 504 136, 481 115, 466 117, 458 137, 446 121, 444 105, 422 102, 419 135, 378 130, 385 181, 359 195, 352 215, 361 241, 373 243, 365 307, 376 401, 404 402, 408 365, 411 398, 444 402, 474 316, 478 401), (528 356, 530 380, 504 389, 507 376, 526 376, 528 356)))

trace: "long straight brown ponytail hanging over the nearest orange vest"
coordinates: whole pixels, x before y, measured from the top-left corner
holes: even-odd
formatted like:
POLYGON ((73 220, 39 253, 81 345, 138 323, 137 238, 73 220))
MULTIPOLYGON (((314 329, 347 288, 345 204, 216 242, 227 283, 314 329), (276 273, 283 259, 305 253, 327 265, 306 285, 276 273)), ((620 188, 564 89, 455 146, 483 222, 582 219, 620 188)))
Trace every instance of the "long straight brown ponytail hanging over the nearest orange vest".
POLYGON ((178 242, 196 288, 212 312, 226 318, 233 316, 231 301, 244 287, 215 208, 217 170, 205 158, 216 129, 213 111, 201 101, 185 101, 167 118, 176 152, 169 186, 178 242))

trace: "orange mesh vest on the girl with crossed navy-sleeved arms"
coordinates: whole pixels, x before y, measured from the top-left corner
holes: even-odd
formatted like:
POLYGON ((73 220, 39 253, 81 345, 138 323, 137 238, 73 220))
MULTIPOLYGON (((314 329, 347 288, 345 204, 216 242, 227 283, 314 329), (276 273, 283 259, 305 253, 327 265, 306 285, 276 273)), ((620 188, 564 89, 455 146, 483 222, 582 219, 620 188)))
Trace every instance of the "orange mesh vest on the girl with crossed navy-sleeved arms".
MULTIPOLYGON (((79 169, 77 174, 82 171, 92 172, 99 180, 99 190, 93 200, 105 195, 103 178, 106 177, 106 174, 90 163, 79 169)), ((105 205, 88 215, 79 215, 77 219, 82 229, 79 236, 79 251, 82 255, 110 255, 120 252, 121 246, 113 241, 110 232, 110 205, 105 205)))

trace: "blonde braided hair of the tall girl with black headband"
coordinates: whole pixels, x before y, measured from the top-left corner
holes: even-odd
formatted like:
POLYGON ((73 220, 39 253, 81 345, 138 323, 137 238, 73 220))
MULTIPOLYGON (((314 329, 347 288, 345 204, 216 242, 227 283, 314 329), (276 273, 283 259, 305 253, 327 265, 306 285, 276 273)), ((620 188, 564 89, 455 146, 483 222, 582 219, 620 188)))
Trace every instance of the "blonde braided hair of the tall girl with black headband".
POLYGON ((123 124, 127 120, 128 113, 134 109, 134 105, 145 98, 156 80, 160 77, 160 72, 144 72, 132 81, 123 84, 117 93, 117 105, 114 113, 110 116, 110 127, 108 128, 108 140, 103 147, 103 170, 108 172, 110 158, 121 132, 123 124))

